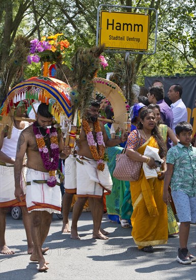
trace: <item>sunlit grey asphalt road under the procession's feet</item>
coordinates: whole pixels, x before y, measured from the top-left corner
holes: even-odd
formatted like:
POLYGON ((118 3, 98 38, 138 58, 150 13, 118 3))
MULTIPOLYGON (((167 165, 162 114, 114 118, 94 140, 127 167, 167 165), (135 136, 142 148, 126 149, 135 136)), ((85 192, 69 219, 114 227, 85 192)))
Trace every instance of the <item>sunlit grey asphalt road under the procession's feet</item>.
MULTIPOLYGON (((70 213, 71 217, 72 213, 70 213)), ((109 240, 92 239, 91 213, 82 213, 78 222, 81 240, 70 239, 61 233, 62 220, 54 214, 44 246, 49 261, 46 272, 38 272, 38 263, 27 255, 22 220, 7 217, 6 240, 15 255, 0 255, 0 279, 59 280, 59 279, 189 279, 195 280, 196 262, 181 265, 176 261, 178 235, 169 238, 164 246, 156 246, 155 253, 138 251, 131 237, 131 229, 123 229, 103 216, 102 228, 109 231, 109 240)), ((189 251, 196 254, 196 226, 191 225, 189 251)))

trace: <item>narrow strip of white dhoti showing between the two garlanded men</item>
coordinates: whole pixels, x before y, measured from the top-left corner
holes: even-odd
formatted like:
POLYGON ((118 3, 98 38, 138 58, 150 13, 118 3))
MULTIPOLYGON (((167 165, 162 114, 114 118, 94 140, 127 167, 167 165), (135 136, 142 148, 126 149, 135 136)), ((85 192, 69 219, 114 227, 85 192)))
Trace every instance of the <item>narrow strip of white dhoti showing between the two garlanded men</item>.
POLYGON ((76 157, 69 155, 65 160, 64 182, 65 191, 68 193, 76 193, 77 180, 76 180, 76 157))

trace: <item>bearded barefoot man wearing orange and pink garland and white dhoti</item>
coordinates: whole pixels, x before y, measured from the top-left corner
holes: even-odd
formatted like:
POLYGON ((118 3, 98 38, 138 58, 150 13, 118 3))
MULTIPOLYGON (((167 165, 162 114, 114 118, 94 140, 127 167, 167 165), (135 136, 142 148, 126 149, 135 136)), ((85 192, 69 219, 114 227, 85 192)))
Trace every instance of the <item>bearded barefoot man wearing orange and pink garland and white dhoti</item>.
POLYGON ((111 180, 107 163, 104 161, 105 147, 114 147, 127 140, 128 133, 121 138, 108 139, 104 125, 97 120, 100 103, 93 100, 82 119, 79 139, 76 141, 76 177, 78 199, 73 207, 71 238, 80 239, 77 221, 83 205, 89 198, 93 216, 93 238, 108 239, 100 231, 103 215, 103 191, 111 192, 111 180))

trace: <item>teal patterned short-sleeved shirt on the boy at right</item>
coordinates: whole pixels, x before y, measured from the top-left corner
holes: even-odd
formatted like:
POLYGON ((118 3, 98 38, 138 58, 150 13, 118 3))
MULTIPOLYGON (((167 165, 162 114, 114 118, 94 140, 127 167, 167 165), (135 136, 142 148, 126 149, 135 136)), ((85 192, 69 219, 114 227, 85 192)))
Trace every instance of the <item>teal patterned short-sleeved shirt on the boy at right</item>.
POLYGON ((178 143, 167 152, 166 163, 174 165, 171 189, 180 190, 195 197, 196 195, 196 148, 178 143))

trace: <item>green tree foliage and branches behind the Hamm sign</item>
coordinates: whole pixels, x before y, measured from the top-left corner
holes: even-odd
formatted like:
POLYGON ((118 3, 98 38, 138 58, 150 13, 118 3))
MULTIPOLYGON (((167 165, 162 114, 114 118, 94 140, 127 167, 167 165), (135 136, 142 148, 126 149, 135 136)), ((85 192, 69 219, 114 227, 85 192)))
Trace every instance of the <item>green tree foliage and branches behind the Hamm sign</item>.
MULTIPOLYGON (((70 56, 78 47, 96 43, 97 8, 108 1, 99 0, 1 0, 0 4, 0 71, 13 52, 14 38, 21 34, 33 39, 64 33, 70 42, 70 56)), ((158 11, 157 50, 154 55, 134 54, 136 73, 196 73, 195 1, 189 0, 120 0, 110 5, 155 8, 158 11), (145 67, 146 66, 146 67, 145 67)), ((104 8, 107 9, 107 8, 104 8)), ((118 8, 117 10, 120 10, 118 8)), ((136 9, 123 8, 136 12, 136 9)), ((150 14, 150 47, 154 45, 155 13, 150 14)), ((121 54, 106 54, 107 72, 121 54)), ((34 67, 36 68, 36 67, 34 67)), ((26 77, 33 74, 28 67, 26 77), (29 71, 29 72, 28 72, 29 71)), ((37 68, 36 68, 37 69, 37 68)), ((105 72, 106 72, 105 71, 105 72)), ((100 73, 104 76, 105 72, 100 73)), ((24 72, 25 73, 25 72, 24 72)), ((39 73, 37 73, 39 74, 39 73)))

